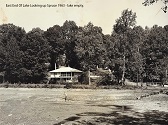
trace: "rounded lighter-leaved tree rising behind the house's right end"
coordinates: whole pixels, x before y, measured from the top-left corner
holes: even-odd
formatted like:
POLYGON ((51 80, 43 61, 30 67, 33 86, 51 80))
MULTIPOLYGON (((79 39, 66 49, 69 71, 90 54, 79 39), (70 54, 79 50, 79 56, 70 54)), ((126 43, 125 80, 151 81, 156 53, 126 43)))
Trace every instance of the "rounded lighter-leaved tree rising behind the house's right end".
POLYGON ((80 27, 76 35, 75 52, 80 62, 80 69, 94 70, 97 65, 103 65, 106 50, 103 44, 103 34, 100 27, 88 23, 80 27))

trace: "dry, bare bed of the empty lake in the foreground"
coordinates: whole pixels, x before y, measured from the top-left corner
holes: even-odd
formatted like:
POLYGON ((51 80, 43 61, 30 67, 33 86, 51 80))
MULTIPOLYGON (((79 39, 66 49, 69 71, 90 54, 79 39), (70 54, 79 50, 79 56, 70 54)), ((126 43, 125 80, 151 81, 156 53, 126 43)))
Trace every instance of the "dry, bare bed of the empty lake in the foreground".
POLYGON ((150 92, 0 88, 0 125, 167 124, 167 95, 136 100, 150 92))

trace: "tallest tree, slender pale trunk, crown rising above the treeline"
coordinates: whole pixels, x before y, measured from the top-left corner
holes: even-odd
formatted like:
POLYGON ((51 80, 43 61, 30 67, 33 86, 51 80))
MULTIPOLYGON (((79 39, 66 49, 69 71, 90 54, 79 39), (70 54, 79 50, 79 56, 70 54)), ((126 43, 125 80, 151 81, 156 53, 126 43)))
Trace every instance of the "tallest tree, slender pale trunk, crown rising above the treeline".
POLYGON ((116 20, 116 24, 114 25, 114 34, 116 34, 119 39, 119 43, 116 43, 116 47, 118 48, 118 59, 122 58, 123 68, 122 68, 122 78, 121 83, 124 84, 125 80, 125 71, 126 71, 126 61, 129 56, 130 45, 128 42, 128 34, 136 24, 136 13, 133 13, 132 10, 124 10, 116 20))

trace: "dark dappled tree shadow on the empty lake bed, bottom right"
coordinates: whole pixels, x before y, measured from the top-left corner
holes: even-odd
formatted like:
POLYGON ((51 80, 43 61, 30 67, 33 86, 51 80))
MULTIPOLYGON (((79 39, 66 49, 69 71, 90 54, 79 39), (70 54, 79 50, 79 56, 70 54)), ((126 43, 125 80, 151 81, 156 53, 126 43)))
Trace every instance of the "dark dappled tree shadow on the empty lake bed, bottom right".
POLYGON ((54 125, 61 125, 69 121, 73 121, 73 125, 168 125, 167 112, 152 110, 140 113, 128 106, 124 106, 124 108, 119 105, 113 106, 115 110, 109 113, 84 112, 54 125), (87 120, 81 120, 81 117, 87 117, 87 120))

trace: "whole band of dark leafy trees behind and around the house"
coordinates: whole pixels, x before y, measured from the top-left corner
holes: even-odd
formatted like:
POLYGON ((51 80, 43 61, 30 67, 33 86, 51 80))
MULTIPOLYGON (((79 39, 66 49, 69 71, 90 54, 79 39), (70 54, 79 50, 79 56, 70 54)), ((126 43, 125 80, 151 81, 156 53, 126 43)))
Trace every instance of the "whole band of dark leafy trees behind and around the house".
POLYGON ((55 62, 63 65, 64 54, 65 65, 82 71, 108 67, 116 81, 166 82, 168 25, 144 29, 135 24, 136 13, 127 9, 110 35, 91 22, 81 27, 65 21, 28 33, 13 24, 0 25, 1 82, 46 83, 48 70, 55 62))

